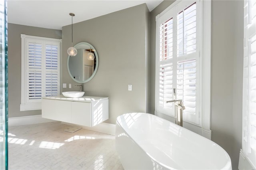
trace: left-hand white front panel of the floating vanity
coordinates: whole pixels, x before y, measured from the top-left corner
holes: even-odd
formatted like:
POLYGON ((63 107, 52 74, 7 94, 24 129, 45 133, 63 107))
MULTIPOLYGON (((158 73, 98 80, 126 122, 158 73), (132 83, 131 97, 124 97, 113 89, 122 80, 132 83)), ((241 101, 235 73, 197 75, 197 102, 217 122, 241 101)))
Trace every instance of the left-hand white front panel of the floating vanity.
POLYGON ((71 102, 42 99, 42 117, 69 122, 71 120, 71 102))

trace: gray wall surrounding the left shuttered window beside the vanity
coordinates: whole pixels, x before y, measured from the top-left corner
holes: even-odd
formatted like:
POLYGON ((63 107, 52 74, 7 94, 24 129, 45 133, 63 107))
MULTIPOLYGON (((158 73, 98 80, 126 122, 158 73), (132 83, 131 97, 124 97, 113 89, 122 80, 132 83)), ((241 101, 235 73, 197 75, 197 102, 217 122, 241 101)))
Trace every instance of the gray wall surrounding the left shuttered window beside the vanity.
POLYGON ((61 30, 52 30, 8 23, 8 109, 9 117, 40 115, 41 110, 20 112, 21 38, 20 34, 62 38, 61 30))

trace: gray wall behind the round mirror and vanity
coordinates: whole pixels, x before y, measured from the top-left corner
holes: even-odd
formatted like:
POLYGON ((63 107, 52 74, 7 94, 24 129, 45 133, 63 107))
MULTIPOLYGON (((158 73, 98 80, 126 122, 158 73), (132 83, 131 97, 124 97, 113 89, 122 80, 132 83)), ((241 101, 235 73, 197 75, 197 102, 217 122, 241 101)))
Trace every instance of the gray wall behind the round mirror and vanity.
MULTIPOLYGON (((146 4, 127 8, 91 20, 73 24, 73 44, 92 44, 99 57, 94 78, 84 83, 88 96, 109 97, 109 119, 130 112, 146 112, 149 106, 149 11, 146 4), (132 91, 128 91, 132 84, 132 91)), ((67 52, 71 45, 71 26, 62 27, 61 83, 72 83, 79 90, 67 70, 67 52)))

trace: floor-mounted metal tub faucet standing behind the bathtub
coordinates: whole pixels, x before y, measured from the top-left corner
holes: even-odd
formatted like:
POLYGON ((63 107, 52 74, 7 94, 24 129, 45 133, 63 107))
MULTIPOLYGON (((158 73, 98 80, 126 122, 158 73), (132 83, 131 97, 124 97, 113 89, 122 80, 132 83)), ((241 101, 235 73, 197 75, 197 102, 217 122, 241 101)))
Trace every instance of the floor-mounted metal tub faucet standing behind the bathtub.
POLYGON ((183 105, 182 100, 176 100, 176 89, 173 89, 174 100, 166 101, 166 103, 174 102, 175 105, 175 123, 183 127, 183 110, 185 106, 183 105))

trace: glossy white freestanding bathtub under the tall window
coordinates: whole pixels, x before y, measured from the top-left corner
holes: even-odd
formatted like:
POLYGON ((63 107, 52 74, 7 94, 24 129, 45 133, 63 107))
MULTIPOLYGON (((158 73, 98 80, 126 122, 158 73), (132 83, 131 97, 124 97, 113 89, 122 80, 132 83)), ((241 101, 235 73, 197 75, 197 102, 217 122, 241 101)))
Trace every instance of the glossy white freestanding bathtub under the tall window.
POLYGON ((127 170, 232 170, 228 153, 218 144, 146 113, 116 119, 116 150, 127 170))

